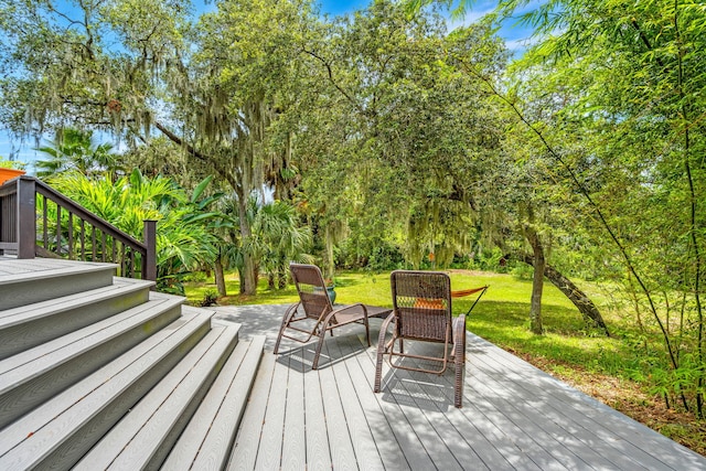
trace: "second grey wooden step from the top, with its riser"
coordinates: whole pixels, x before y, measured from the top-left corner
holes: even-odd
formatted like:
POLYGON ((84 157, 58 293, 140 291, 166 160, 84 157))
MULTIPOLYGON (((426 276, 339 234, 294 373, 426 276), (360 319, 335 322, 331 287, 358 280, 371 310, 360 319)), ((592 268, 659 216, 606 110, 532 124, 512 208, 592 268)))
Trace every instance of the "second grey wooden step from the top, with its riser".
POLYGON ((107 287, 0 311, 0 360, 146 302, 153 285, 116 277, 107 287))

